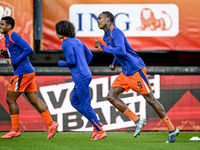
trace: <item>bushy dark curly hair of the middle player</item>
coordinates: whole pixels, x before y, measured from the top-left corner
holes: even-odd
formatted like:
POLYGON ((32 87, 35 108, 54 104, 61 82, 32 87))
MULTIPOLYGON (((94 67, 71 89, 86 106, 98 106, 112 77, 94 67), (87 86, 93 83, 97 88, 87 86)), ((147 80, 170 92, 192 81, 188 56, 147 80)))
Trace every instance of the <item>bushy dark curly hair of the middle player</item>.
POLYGON ((75 27, 68 20, 62 20, 56 24, 56 33, 66 37, 75 37, 75 27))

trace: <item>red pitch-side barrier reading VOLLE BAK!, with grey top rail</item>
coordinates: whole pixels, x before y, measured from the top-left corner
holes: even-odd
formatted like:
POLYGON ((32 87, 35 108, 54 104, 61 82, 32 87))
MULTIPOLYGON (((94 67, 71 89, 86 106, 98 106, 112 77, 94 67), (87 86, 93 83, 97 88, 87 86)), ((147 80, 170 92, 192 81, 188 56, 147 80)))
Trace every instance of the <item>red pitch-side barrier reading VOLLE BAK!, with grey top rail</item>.
MULTIPOLYGON (((91 66, 93 78, 90 83, 91 105, 105 131, 134 131, 133 122, 107 101, 107 93, 121 72, 121 67, 110 71, 108 66, 91 66)), ((92 125, 71 105, 74 88, 72 76, 67 67, 35 67, 38 96, 48 106, 58 131, 92 131, 92 125)), ((148 78, 155 98, 164 105, 173 124, 181 131, 200 131, 200 68, 194 66, 147 66, 148 78)), ((0 66, 0 131, 11 128, 6 91, 13 74, 13 68, 0 66)), ((129 90, 120 94, 129 108, 143 118, 147 124, 144 131, 163 131, 167 128, 143 96, 129 90)), ((48 126, 41 115, 32 107, 25 95, 18 98, 21 131, 46 131, 48 126), (34 122, 30 122, 30 114, 34 122), (36 125, 37 124, 37 125, 36 125)))

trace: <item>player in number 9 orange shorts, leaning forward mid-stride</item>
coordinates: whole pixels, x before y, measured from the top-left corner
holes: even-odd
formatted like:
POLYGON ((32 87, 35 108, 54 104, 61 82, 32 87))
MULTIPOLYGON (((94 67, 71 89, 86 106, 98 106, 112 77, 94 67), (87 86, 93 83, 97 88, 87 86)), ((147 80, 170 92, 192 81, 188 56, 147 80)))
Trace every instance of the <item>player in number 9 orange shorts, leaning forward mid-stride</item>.
POLYGON ((167 116, 164 107, 154 97, 143 60, 131 48, 124 33, 113 25, 114 16, 112 13, 109 11, 102 12, 98 16, 97 23, 98 27, 105 32, 103 40, 107 46, 102 45, 96 40, 95 48, 114 54, 114 61, 109 66, 112 71, 115 70, 118 63, 122 67, 122 72, 113 82, 107 95, 108 101, 135 122, 136 130, 134 137, 137 137, 137 135, 140 134, 142 127, 146 124, 146 119, 134 114, 127 105, 119 99, 118 95, 123 91, 128 92, 130 89, 141 93, 147 103, 153 107, 167 126, 169 137, 166 143, 174 142, 175 137, 179 134, 179 130, 174 127, 167 116))

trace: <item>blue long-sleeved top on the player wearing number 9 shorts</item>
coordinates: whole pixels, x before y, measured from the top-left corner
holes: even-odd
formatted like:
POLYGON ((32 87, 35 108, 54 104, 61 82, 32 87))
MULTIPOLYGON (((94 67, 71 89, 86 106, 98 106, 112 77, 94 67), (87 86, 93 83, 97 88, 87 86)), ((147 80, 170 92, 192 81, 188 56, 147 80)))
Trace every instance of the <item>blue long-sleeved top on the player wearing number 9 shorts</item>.
POLYGON ((116 66, 119 62, 125 75, 131 76, 145 67, 143 60, 131 48, 124 33, 117 27, 111 25, 105 32, 103 40, 107 46, 101 44, 101 49, 114 54, 115 58, 112 64, 116 66))

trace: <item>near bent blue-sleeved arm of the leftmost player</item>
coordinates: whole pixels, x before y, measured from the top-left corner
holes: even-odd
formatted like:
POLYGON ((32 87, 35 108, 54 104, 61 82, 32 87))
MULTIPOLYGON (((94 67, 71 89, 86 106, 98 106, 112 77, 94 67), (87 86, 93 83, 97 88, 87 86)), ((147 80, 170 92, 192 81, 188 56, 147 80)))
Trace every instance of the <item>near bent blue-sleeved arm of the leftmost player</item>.
POLYGON ((11 39, 15 42, 15 44, 17 46, 19 46, 23 52, 22 54, 13 59, 11 58, 11 61, 12 61, 12 65, 15 65, 19 62, 21 62, 23 59, 25 59, 27 56, 29 56, 32 52, 33 52, 33 49, 30 47, 30 45, 17 33, 13 33, 11 35, 11 39))

